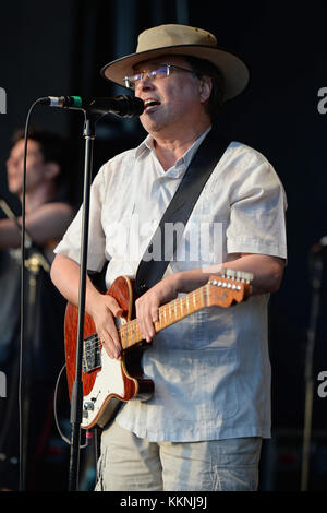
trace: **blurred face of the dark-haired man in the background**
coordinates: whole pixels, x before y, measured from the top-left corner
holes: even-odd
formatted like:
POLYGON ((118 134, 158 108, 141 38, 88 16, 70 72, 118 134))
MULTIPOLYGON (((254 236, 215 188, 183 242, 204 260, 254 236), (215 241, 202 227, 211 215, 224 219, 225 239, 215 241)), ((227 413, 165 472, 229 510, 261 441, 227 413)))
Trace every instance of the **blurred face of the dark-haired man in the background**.
MULTIPOLYGON (((12 147, 7 160, 7 177, 10 192, 20 195, 23 188, 24 140, 12 147)), ((28 140, 26 158, 26 191, 37 189, 45 181, 46 163, 39 143, 28 140)))

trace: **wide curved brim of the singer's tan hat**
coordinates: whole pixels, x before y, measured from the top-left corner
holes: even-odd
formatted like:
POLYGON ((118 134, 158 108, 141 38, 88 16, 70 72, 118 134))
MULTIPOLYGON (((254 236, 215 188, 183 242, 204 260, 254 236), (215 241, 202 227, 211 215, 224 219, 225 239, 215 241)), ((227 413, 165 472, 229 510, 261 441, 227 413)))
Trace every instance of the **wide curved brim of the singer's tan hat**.
POLYGON ((215 64, 222 73, 225 81, 223 102, 234 98, 242 93, 249 84, 249 67, 234 53, 222 48, 206 45, 178 45, 159 49, 131 53, 104 65, 101 75, 122 87, 125 87, 124 77, 134 73, 133 68, 148 59, 159 56, 180 55, 205 59, 215 64))

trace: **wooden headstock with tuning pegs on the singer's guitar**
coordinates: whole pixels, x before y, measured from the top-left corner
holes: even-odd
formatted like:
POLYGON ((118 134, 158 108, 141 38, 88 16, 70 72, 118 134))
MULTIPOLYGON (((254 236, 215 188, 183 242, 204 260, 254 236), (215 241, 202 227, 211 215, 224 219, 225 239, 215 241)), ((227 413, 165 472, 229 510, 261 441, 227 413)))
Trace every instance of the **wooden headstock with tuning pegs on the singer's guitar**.
POLYGON ((253 274, 244 271, 223 269, 218 276, 210 276, 208 281, 208 306, 228 308, 234 303, 245 301, 251 294, 253 274))

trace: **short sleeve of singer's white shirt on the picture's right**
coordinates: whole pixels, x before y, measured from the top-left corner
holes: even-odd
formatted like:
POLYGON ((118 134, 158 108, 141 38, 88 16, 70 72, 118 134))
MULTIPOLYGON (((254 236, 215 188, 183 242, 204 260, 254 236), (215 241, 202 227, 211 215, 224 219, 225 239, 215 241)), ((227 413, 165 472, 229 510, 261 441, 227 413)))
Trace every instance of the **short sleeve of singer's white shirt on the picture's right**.
POLYGON ((287 259, 283 187, 274 167, 253 152, 231 195, 228 253, 261 253, 287 259))

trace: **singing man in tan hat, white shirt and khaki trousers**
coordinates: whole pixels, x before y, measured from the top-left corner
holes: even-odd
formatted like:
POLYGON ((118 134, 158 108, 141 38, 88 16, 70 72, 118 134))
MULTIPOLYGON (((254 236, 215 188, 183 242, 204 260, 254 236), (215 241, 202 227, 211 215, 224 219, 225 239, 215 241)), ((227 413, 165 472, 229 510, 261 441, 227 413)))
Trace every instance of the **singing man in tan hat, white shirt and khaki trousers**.
MULTIPOLYGON (((140 119, 149 134, 137 148, 107 163, 93 183, 88 267, 99 271, 109 260, 109 287, 119 275, 135 276, 216 121, 217 107, 241 93, 249 73, 206 31, 162 25, 142 33, 136 53, 107 64, 102 74, 144 100, 140 119)), ((152 342, 143 367, 155 393, 148 402, 128 402, 104 429, 97 490, 257 488, 261 441, 270 436, 267 302, 280 286, 287 258, 284 203, 265 157, 241 143, 229 144, 194 206, 177 259, 136 300, 141 333, 152 342), (207 225, 209 250, 202 247, 194 259, 207 225), (202 286, 222 267, 253 274, 249 301, 198 311, 155 336, 158 307, 202 286)), ((51 270, 55 284, 74 305, 80 220, 56 249, 51 270)), ((114 326, 120 305, 87 281, 86 311, 108 355, 120 359, 114 326)))

